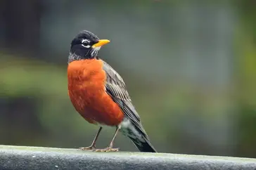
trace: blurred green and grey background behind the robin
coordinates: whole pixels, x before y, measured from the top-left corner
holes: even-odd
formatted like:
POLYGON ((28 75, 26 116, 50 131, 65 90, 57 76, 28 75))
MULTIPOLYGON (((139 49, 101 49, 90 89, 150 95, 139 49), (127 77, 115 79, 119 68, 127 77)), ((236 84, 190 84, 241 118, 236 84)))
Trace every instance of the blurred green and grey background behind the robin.
MULTIPOLYGON (((256 157, 255 1, 1 0, 0 12, 0 144, 91 144, 98 126, 72 107, 66 73, 89 30, 110 39, 99 55, 159 152, 256 157)), ((121 134, 115 147, 136 151, 121 134)))

